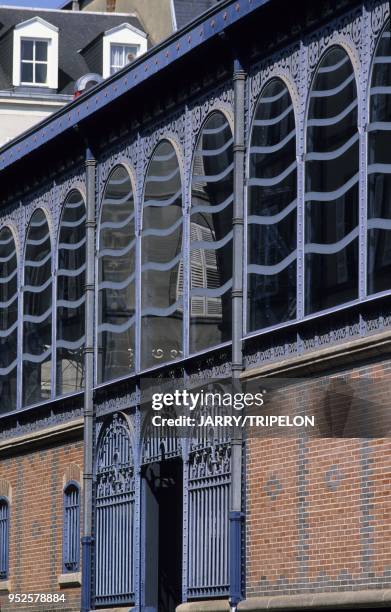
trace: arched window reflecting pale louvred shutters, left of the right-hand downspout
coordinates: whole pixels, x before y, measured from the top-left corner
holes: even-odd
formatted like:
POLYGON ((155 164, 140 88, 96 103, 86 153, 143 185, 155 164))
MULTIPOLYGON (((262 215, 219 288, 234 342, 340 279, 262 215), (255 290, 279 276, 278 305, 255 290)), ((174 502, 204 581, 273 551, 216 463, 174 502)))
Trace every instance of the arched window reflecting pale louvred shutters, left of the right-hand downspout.
POLYGON ((198 138, 190 211, 190 352, 231 338, 233 137, 213 112, 198 138))

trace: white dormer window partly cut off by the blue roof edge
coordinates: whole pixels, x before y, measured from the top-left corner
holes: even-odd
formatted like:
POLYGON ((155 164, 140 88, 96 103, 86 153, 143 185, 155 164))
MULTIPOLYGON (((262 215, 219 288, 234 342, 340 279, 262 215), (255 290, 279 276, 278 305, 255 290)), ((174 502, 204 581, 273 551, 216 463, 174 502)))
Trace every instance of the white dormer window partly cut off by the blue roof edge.
POLYGON ((147 50, 147 36, 130 23, 107 30, 103 37, 104 78, 114 74, 147 50))

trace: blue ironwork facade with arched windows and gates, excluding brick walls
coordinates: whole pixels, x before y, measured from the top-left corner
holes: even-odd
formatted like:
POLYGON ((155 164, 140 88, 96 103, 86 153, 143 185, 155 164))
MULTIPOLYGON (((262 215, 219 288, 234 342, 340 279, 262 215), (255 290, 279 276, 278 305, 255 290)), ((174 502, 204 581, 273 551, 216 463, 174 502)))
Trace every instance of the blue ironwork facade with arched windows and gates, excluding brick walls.
MULTIPOLYGON (((215 44, 217 33, 263 4, 224 3, 0 153, 0 169, 10 172, 24 151, 40 152, 38 141, 49 146, 67 130, 82 142, 66 163, 60 156, 39 189, 30 183, 15 195, 10 188, 0 212, 1 412, 4 437, 14 437, 82 414, 88 185, 80 151, 86 140, 94 145, 94 519, 86 588, 97 607, 140 606, 151 597, 145 509, 163 495, 157 488, 169 462, 181 483, 180 598, 230 594, 230 550, 241 551, 230 547, 231 440, 221 432, 152 434, 139 399, 150 377, 163 385, 231 375, 235 263, 244 278, 244 369, 391 327, 387 2, 345 7, 320 28, 315 20, 310 33, 292 30, 270 53, 255 39, 240 49, 243 252, 233 244, 235 96, 226 49, 212 71, 205 68, 208 78, 198 67, 194 84, 184 91, 176 84, 174 101, 163 92, 149 114, 129 111, 100 139, 97 125, 110 104, 149 74, 157 78, 172 58, 185 61, 215 44), (84 125, 94 113, 97 124, 84 125), (345 176, 336 172, 341 164, 345 176), (330 273, 326 294, 314 272, 320 268, 323 278, 330 273)), ((224 36, 216 44, 225 48, 224 36)), ((66 504, 72 522, 76 506, 66 504)))

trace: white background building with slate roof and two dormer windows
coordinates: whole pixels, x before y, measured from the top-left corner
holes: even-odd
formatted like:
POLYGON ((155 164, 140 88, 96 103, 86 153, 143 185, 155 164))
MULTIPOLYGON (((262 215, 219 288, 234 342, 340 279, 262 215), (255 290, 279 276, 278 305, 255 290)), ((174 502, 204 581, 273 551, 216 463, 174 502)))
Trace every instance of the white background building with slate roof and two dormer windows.
POLYGON ((136 15, 0 7, 0 145, 147 50, 136 15), (85 84, 84 84, 85 85, 85 84))

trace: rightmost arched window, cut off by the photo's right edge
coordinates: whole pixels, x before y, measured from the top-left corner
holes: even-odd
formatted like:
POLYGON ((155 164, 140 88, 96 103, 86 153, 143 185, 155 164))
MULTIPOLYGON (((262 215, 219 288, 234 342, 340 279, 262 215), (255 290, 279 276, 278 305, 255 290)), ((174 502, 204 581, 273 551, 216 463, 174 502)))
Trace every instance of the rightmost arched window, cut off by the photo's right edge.
POLYGON ((391 38, 375 54, 368 126, 368 293, 391 287, 391 38))

